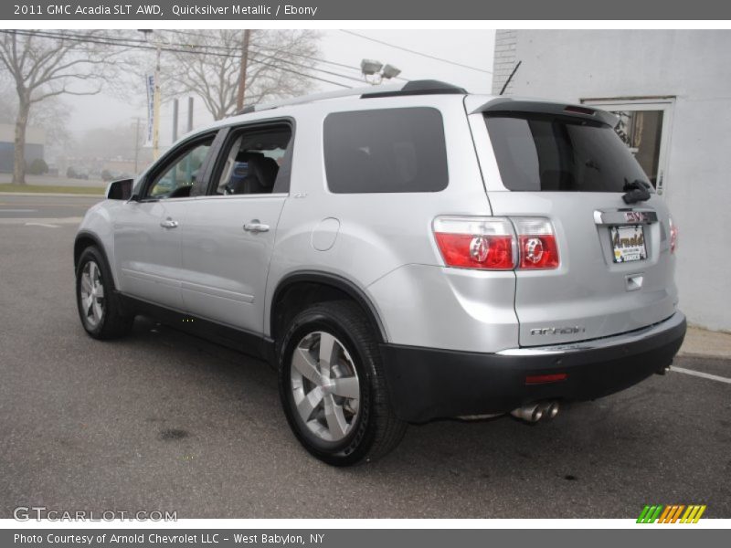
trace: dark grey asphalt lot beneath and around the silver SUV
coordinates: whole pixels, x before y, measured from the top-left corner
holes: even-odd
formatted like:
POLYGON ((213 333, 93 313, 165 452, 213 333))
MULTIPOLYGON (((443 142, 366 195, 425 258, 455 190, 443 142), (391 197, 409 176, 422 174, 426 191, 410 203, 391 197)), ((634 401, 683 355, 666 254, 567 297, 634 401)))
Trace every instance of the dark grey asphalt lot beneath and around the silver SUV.
MULTIPOLYGON (((291 436, 268 365, 143 319, 123 341, 86 336, 71 251, 74 218, 93 200, 69 198, 41 223, 3 214, 50 207, 24 199, 0 205, 0 518, 31 505, 179 518, 634 518, 655 503, 731 517, 730 384, 655 375, 536 426, 433 422, 410 427, 381 461, 332 469, 291 436)), ((731 377, 722 360, 677 364, 731 377)))

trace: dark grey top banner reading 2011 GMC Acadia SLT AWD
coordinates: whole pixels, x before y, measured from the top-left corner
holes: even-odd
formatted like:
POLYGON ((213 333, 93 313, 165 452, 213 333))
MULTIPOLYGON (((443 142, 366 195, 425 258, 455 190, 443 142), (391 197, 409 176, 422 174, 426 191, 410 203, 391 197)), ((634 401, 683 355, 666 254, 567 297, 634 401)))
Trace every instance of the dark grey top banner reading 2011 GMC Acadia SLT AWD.
POLYGON ((705 20, 731 19, 719 0, 4 0, 0 18, 71 20, 705 20))

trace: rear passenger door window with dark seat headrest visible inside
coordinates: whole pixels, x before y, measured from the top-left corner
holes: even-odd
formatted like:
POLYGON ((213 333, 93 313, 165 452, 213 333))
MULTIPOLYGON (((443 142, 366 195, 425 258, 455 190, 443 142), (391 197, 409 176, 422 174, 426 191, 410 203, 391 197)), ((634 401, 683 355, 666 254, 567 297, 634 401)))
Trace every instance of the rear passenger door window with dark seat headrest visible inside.
POLYGON ((288 125, 235 133, 220 175, 214 179, 217 181, 215 194, 274 192, 290 142, 291 128, 288 125))

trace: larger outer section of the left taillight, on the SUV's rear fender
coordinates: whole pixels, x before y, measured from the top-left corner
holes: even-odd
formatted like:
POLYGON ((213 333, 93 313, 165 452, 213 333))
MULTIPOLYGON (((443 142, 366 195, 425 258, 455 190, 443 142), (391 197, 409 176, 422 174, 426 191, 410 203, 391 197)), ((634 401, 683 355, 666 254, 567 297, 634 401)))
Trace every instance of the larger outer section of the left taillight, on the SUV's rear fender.
POLYGON ((515 236, 503 217, 437 217, 434 236, 448 267, 512 270, 515 236))

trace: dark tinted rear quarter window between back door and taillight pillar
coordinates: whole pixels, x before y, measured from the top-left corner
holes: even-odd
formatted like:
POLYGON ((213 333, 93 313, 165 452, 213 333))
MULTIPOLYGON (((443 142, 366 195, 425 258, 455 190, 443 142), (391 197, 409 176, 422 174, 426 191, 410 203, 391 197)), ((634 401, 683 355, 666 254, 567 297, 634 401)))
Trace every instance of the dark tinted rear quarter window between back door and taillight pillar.
POLYGON ((324 121, 331 192, 437 192, 447 187, 440 111, 430 108, 334 112, 324 121))

